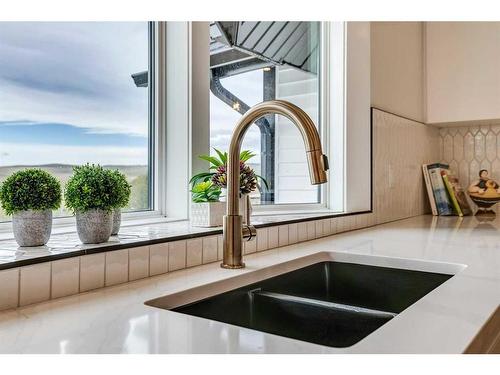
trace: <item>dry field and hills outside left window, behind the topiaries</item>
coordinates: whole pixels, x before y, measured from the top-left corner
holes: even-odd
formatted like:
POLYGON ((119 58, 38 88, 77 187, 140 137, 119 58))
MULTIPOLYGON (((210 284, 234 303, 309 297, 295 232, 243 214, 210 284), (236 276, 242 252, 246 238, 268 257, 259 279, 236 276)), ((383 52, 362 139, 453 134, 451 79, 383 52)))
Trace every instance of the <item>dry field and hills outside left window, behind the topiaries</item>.
MULTIPOLYGON (((36 166, 6 166, 0 167, 0 183, 15 171, 25 168, 40 168, 59 179, 64 187, 66 181, 73 173, 73 166, 67 164, 47 164, 36 166)), ((126 210, 137 211, 148 209, 148 167, 146 165, 105 165, 104 168, 118 169, 127 176, 127 180, 132 185, 132 194, 129 206, 126 210)), ((54 216, 71 215, 64 207, 61 207, 54 216)), ((10 220, 0 208, 0 221, 10 220)))

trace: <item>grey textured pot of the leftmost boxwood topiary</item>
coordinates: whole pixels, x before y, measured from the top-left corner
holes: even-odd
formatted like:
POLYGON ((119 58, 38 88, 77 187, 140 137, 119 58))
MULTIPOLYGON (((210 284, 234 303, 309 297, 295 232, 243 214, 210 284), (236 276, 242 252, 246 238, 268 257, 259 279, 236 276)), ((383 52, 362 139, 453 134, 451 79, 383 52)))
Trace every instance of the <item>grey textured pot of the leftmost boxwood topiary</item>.
POLYGON ((12 227, 19 246, 43 246, 52 232, 52 210, 16 212, 12 215, 12 227))

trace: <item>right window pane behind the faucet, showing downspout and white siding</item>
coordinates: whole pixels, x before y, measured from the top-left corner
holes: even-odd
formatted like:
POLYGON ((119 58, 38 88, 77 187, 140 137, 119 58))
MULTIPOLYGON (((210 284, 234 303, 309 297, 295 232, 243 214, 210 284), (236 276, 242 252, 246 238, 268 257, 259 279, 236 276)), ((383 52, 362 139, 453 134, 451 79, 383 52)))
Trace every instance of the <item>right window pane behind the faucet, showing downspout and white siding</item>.
MULTIPOLYGON (((210 146, 227 150, 233 126, 264 100, 283 99, 304 109, 319 127, 320 22, 212 22, 210 24, 210 146)), ((269 183, 254 204, 320 203, 312 186, 298 129, 281 116, 252 125, 242 149, 269 183), (283 126, 284 125, 284 126, 283 126)))

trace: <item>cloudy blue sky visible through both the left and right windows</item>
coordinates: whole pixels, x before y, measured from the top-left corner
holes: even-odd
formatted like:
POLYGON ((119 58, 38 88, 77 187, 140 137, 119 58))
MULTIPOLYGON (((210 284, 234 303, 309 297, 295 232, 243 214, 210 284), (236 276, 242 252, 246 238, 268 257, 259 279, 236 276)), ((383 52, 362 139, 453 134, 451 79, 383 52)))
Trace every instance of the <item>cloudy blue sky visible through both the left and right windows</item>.
MULTIPOLYGON (((148 68, 147 40, 146 22, 0 22, 0 165, 147 161, 148 90, 130 76, 148 68)), ((250 106, 262 101, 261 70, 223 84, 250 106)), ((210 110, 211 145, 227 149, 241 115, 213 95, 210 110)), ((260 153, 255 126, 243 148, 260 153)))

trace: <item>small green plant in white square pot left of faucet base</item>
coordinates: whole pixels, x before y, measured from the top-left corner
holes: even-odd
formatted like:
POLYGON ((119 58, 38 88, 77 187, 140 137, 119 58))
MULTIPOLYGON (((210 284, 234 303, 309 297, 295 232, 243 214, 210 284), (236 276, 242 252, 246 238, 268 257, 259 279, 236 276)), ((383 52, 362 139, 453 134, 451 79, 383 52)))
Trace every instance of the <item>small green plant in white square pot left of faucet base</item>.
POLYGON ((220 187, 212 181, 202 181, 193 186, 191 193, 191 224, 197 227, 221 226, 226 205, 219 201, 222 193, 220 187))

